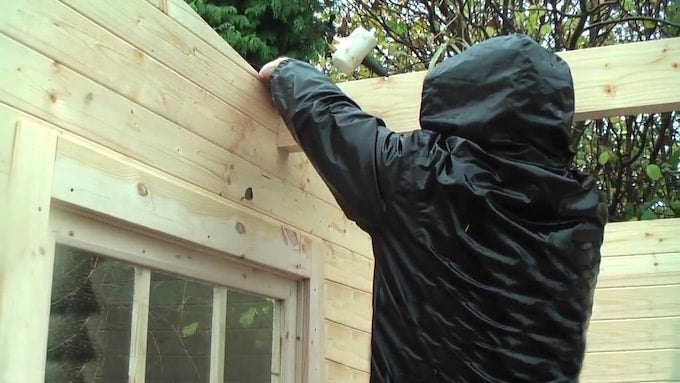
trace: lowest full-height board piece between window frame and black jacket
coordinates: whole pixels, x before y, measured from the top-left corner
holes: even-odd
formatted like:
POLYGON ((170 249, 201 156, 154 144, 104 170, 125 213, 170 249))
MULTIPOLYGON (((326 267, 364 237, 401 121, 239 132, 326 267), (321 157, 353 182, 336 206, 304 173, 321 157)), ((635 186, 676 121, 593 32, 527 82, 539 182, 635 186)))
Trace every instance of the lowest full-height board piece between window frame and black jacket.
POLYGON ((350 327, 325 322, 326 359, 354 368, 370 372, 371 335, 350 327))

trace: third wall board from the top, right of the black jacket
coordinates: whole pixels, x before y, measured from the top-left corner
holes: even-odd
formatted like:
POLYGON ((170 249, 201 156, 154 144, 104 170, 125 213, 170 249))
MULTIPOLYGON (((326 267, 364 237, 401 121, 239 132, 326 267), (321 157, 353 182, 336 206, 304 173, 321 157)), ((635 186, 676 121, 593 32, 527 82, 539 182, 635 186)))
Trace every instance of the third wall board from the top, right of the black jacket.
POLYGON ((593 320, 680 316, 680 285, 595 290, 593 320))

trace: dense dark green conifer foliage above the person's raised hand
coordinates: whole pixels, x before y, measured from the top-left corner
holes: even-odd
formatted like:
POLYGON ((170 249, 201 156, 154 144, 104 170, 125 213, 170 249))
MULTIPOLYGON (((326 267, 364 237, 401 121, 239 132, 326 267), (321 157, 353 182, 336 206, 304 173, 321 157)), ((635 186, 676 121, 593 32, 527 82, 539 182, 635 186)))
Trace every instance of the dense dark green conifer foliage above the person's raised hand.
POLYGON ((256 68, 278 56, 315 59, 328 27, 315 0, 186 0, 256 68))

